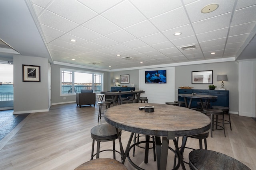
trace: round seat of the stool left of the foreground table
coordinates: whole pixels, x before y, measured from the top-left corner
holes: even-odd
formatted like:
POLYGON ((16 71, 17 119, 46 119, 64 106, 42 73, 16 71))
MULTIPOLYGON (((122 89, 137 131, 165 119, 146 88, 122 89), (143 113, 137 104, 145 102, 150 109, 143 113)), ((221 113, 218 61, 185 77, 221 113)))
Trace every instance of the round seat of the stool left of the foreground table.
MULTIPOLYGON (((121 135, 121 129, 118 130, 119 134, 121 135)), ((118 138, 116 134, 116 128, 110 124, 101 124, 94 126, 91 129, 91 137, 96 141, 112 141, 118 138)))

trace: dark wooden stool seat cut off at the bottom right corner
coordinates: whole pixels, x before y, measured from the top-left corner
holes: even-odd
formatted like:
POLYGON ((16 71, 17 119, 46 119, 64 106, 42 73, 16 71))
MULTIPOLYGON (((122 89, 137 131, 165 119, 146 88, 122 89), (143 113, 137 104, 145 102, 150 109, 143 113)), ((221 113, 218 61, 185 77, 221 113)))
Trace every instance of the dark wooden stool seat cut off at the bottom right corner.
POLYGON ((212 150, 193 150, 188 155, 191 170, 250 170, 238 160, 212 150))

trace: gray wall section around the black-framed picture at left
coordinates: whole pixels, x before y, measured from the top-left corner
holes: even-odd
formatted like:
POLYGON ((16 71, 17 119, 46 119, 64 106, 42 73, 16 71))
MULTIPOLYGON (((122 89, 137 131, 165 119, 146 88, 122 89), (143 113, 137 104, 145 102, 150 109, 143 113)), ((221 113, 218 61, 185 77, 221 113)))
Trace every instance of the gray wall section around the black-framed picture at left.
POLYGON ((48 111, 48 59, 14 55, 14 114, 48 111), (41 82, 22 82, 22 64, 40 66, 41 82))

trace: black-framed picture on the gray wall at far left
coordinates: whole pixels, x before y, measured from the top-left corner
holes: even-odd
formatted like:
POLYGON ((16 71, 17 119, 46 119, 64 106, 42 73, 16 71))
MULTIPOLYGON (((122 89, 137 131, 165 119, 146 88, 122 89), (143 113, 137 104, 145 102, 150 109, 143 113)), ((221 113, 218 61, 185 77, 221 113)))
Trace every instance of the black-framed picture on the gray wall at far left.
POLYGON ((22 64, 22 82, 41 82, 40 66, 22 64))

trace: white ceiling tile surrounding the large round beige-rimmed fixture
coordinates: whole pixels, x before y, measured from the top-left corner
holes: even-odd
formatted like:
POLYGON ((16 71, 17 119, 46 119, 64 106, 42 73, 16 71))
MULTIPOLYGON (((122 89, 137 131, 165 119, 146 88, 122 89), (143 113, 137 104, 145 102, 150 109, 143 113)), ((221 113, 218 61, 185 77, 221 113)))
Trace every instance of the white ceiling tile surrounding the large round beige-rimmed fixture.
POLYGON ((231 12, 233 10, 234 2, 235 0, 214 0, 214 2, 212 0, 198 0, 186 5, 186 10, 191 22, 196 22, 231 12), (201 12, 202 8, 213 3, 220 4, 218 9, 207 14, 201 12))

